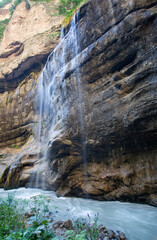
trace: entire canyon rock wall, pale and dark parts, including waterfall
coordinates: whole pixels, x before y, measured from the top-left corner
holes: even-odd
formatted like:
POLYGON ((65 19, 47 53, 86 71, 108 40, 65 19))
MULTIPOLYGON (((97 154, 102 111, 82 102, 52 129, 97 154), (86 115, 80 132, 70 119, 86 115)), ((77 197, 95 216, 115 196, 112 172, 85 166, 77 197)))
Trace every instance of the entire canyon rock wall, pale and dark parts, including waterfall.
POLYGON ((0 43, 0 186, 157 205, 157 1, 90 0, 61 40, 63 17, 22 9, 0 43))

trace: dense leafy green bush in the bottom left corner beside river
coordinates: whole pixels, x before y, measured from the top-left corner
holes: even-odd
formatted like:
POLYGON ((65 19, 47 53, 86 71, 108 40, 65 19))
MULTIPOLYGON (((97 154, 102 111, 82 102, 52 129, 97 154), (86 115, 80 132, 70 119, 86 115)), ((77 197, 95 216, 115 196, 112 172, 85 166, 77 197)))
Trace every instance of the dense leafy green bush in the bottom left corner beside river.
POLYGON ((43 196, 35 197, 32 216, 28 219, 24 215, 26 204, 26 201, 16 201, 12 195, 8 195, 6 201, 0 199, 0 239, 49 240, 54 237, 46 217, 48 200, 43 196))

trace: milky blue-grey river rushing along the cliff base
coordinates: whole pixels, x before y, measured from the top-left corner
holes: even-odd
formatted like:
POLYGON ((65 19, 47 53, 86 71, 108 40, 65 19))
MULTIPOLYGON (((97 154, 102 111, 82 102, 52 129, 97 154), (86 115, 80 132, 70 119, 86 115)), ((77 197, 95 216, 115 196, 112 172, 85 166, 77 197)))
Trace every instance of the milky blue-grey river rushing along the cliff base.
POLYGON ((54 220, 94 218, 99 213, 99 222, 109 229, 123 231, 128 240, 157 240, 157 208, 134 203, 100 202, 81 198, 57 198, 54 192, 39 189, 0 189, 0 197, 13 193, 15 198, 31 199, 42 194, 50 200, 54 220))

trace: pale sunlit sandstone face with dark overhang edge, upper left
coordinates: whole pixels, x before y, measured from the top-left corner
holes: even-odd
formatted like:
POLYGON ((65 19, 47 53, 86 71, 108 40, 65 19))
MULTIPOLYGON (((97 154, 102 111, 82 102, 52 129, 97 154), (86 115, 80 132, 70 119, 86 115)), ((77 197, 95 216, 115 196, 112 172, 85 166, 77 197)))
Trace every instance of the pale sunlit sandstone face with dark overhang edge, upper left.
POLYGON ((16 7, 0 43, 0 92, 17 87, 15 79, 55 47, 63 17, 51 16, 54 9, 38 3, 27 10, 25 2, 16 7))

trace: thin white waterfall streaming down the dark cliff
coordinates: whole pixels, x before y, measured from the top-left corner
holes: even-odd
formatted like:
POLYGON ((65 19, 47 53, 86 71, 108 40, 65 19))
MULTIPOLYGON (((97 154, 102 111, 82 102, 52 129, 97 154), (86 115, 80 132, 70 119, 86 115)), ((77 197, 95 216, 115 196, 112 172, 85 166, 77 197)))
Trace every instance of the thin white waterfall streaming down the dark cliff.
MULTIPOLYGON (((83 174, 86 176, 86 147, 85 147, 85 116, 83 93, 81 83, 81 73, 79 71, 79 29, 77 29, 77 22, 79 20, 79 12, 73 17, 71 28, 66 36, 62 31, 61 41, 59 45, 48 57, 45 68, 39 78, 37 89, 37 109, 39 112, 39 123, 37 128, 37 140, 39 145, 38 168, 34 175, 33 182, 36 188, 42 187, 46 189, 45 173, 47 166, 47 151, 50 143, 60 138, 64 131, 65 119, 68 117, 70 104, 68 98, 68 84, 65 79, 67 69, 75 69, 73 77, 73 85, 76 91, 77 102, 77 118, 80 138, 80 155, 84 163, 83 174), (67 54, 67 38, 70 35, 72 41, 72 49, 70 51, 70 61, 67 54), (41 167, 42 165, 42 167, 41 167)), ((85 177, 86 185, 86 177, 85 177)))

